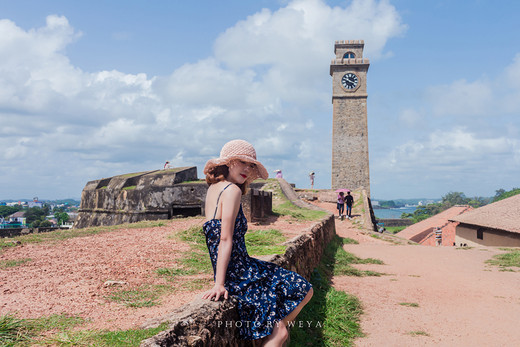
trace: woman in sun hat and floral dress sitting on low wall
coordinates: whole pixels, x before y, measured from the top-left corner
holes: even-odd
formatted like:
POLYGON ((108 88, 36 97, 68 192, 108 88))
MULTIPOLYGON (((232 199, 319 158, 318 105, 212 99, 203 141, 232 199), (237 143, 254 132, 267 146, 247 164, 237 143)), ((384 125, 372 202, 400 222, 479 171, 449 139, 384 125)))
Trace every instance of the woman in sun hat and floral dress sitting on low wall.
POLYGON ((269 176, 244 140, 224 145, 217 159, 204 167, 209 185, 203 225, 215 285, 202 298, 238 301, 240 338, 265 338, 263 346, 282 346, 287 325, 312 297, 312 285, 299 274, 248 255, 244 235, 247 220, 240 203, 249 184, 269 176))

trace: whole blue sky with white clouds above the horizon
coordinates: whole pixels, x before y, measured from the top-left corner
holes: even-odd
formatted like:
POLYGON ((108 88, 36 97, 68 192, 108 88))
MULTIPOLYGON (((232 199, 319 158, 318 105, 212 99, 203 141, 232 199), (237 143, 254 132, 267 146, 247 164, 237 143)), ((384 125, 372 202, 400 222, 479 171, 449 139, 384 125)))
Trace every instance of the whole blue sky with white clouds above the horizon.
POLYGON ((0 0, 0 199, 253 143, 331 182, 334 40, 364 39, 372 197, 520 186, 516 1, 0 0))

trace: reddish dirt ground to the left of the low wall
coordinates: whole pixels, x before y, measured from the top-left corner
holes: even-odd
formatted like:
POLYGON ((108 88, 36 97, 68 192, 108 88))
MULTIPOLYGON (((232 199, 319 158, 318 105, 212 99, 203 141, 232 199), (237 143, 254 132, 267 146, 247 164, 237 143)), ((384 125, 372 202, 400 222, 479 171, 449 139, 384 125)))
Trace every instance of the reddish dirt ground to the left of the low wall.
MULTIPOLYGON (((202 224, 203 218, 178 219, 162 227, 120 229, 4 249, 0 261, 30 261, 0 269, 0 315, 37 318, 64 313, 86 319, 88 323, 80 329, 138 328, 211 287, 213 276, 208 274, 179 278, 174 283, 156 274, 158 268, 175 266, 190 249, 172 235, 202 224), (186 286, 190 280, 202 281, 202 288, 186 286), (107 281, 126 284, 106 286, 107 281), (116 291, 154 285, 174 287, 156 306, 132 308, 108 299, 116 291)), ((270 217, 261 224, 250 224, 249 229, 278 229, 291 239, 310 224, 270 217)))

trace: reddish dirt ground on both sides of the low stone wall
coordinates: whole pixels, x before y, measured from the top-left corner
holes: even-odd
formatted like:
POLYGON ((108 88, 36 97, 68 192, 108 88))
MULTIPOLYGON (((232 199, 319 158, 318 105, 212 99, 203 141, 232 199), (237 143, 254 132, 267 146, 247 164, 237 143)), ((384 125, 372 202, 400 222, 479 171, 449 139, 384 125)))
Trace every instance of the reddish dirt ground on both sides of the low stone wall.
MULTIPOLYGON (((334 204, 321 206, 335 209, 334 204)), ((171 235, 202 223, 202 218, 180 219, 163 227, 120 229, 3 250, 0 260, 31 260, 0 269, 0 315, 35 318, 67 313, 88 320, 81 329, 137 328, 192 300, 206 287, 186 289, 180 283, 175 291, 161 296, 160 305, 143 308, 125 307, 107 296, 142 285, 171 285, 155 270, 173 266, 189 250, 171 235), (127 284, 105 287, 108 280, 127 284)), ((291 238, 309 224, 283 217, 250 225, 250 229, 279 229, 291 238)), ((485 264, 502 251, 395 245, 370 237, 348 220, 336 220, 336 230, 342 237, 359 241, 345 245, 348 252, 385 263, 357 265, 386 274, 381 277, 333 279, 337 289, 362 302, 361 327, 366 336, 355 341, 357 346, 520 345, 519 269, 501 272, 485 264)), ((211 285, 211 275, 198 278, 211 285)))

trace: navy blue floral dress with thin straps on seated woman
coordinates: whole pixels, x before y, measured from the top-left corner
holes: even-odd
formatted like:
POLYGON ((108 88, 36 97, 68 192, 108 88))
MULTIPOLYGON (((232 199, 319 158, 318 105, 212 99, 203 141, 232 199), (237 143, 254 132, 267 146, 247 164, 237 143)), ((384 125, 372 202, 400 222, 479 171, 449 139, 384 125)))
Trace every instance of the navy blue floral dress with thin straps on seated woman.
MULTIPOLYGON (((213 218, 204 223, 203 230, 216 275, 221 221, 213 218)), ((276 323, 298 306, 312 285, 295 272, 251 258, 244 241, 246 231, 247 219, 240 205, 224 287, 238 299, 238 312, 242 320, 240 337, 256 340, 270 335, 276 323)))

